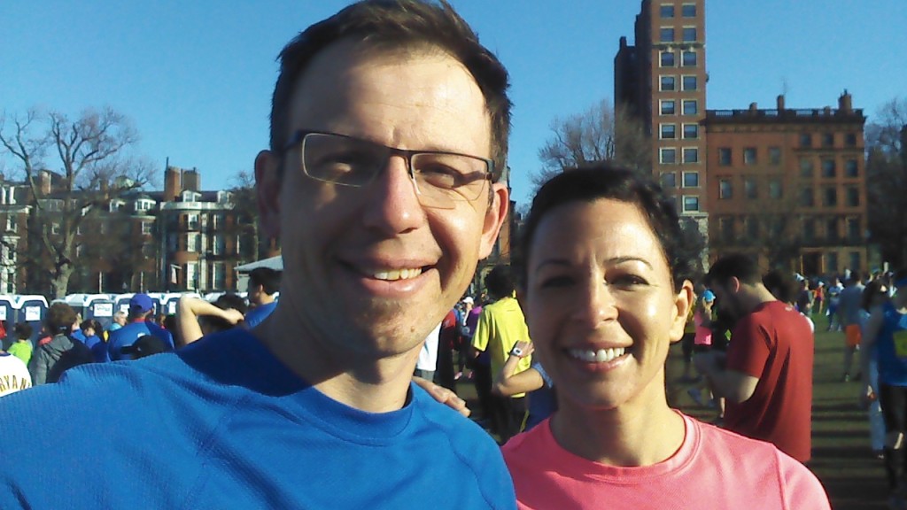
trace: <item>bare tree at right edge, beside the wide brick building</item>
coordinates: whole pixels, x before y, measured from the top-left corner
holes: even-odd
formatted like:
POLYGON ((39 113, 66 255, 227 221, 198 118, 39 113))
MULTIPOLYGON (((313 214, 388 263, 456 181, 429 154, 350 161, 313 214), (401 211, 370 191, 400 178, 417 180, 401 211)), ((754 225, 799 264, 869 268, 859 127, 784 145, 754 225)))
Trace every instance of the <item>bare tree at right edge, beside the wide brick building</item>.
POLYGON ((883 258, 907 264, 907 98, 892 99, 866 125, 869 230, 883 258))

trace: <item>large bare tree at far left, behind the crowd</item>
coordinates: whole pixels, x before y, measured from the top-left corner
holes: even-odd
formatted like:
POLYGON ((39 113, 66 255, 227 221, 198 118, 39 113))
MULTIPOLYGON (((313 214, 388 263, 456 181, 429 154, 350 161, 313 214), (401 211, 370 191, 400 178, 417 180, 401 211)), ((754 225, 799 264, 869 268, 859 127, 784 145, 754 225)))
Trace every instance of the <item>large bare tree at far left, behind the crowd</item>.
POLYGON ((29 255, 54 297, 66 294, 83 221, 110 199, 151 180, 151 165, 129 157, 137 140, 132 123, 110 108, 87 110, 75 119, 36 110, 24 117, 0 116, 2 148, 31 190, 29 245, 39 250, 29 255), (54 160, 55 171, 45 158, 54 160))

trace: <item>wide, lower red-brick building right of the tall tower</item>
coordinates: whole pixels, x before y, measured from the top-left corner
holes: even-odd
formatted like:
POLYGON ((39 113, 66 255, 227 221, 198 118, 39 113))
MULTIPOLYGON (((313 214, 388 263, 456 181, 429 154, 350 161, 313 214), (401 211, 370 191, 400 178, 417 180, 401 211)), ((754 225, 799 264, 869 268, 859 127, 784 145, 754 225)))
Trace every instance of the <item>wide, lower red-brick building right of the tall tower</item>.
POLYGON ((866 270, 862 110, 716 110, 704 122, 712 258, 752 250, 804 274, 866 270))

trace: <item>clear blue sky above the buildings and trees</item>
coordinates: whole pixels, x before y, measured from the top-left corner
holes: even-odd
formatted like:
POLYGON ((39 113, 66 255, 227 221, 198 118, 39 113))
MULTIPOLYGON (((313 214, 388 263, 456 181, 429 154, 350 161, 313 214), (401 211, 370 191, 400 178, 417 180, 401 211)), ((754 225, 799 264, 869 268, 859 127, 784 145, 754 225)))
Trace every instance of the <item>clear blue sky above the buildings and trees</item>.
MULTIPOLYGON (((512 80, 517 201, 557 116, 613 97, 619 37, 637 0, 453 0, 512 80)), ((0 111, 77 114, 110 105, 141 133, 137 152, 197 167, 229 187, 268 144, 280 49, 340 0, 2 0, 0 111)), ((872 121, 907 98, 903 0, 707 0, 707 108, 835 106, 848 89, 872 121)), ((54 162, 48 161, 54 168, 54 162)), ((2 163, 0 163, 2 165, 2 163)), ((0 168, 3 168, 0 166, 0 168)), ((7 162, 7 177, 15 178, 7 162)), ((160 182, 159 182, 160 185, 160 182)))

